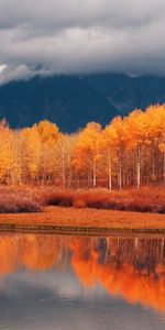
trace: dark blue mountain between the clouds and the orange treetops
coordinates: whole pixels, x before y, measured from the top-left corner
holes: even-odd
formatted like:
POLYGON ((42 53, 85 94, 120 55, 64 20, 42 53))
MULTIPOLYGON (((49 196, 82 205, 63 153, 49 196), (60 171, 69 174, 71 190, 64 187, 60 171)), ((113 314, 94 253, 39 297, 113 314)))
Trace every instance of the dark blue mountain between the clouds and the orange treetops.
POLYGON ((21 128, 48 119, 64 132, 89 121, 103 125, 114 116, 165 102, 165 77, 122 74, 34 77, 0 86, 0 118, 21 128))

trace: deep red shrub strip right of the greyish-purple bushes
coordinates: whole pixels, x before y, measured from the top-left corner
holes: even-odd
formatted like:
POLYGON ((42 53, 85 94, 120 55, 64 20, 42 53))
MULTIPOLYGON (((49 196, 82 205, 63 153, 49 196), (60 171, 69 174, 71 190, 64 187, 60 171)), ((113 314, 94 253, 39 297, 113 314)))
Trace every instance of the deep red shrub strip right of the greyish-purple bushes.
POLYGON ((165 213, 165 187, 143 187, 122 191, 47 188, 41 196, 44 205, 165 213))

